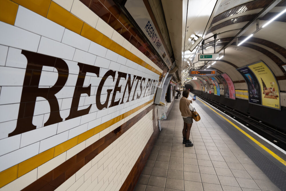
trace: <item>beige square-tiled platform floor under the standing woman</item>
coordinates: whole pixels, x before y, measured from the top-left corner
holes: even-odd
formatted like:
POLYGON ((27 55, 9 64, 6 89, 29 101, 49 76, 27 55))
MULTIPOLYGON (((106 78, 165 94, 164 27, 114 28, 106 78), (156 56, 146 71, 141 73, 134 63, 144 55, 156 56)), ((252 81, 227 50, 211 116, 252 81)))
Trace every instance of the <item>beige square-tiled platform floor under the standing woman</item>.
POLYGON ((194 104, 201 116, 191 128, 194 146, 182 144, 183 120, 177 99, 162 122, 162 131, 134 190, 279 190, 220 125, 194 104))

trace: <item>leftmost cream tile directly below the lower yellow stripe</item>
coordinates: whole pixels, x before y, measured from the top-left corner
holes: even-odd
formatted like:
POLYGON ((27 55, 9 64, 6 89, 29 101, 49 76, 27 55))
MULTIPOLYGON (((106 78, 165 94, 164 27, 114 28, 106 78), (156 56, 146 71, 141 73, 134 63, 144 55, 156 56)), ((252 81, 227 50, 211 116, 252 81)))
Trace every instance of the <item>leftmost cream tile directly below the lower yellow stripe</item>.
POLYGON ((32 182, 37 180, 37 168, 28 172, 27 174, 24 174, 23 176, 17 178, 13 182, 10 182, 9 184, 3 186, 0 188, 1 191, 7 190, 22 190, 32 182))

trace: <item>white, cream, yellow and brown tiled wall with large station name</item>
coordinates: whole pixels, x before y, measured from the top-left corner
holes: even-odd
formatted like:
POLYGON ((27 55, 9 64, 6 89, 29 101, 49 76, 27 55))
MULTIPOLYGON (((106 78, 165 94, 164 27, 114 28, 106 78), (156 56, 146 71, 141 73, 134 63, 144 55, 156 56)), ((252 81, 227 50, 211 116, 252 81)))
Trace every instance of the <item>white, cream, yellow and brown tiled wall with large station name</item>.
POLYGON ((0 0, 0 190, 124 190, 139 178, 166 68, 85 4, 0 0))

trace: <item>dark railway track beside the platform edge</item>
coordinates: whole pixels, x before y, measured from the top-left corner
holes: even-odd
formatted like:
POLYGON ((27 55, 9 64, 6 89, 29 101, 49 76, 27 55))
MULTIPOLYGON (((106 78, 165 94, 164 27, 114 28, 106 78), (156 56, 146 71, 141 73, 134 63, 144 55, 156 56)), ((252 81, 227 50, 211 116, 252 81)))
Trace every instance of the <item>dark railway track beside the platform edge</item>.
POLYGON ((202 95, 195 94, 200 99, 206 101, 210 105, 216 107, 220 111, 224 112, 226 115, 232 117, 233 119, 239 121, 243 125, 247 126, 249 129, 253 130, 257 134, 261 135, 265 139, 271 141, 275 145, 279 146, 283 150, 286 150, 286 132, 281 131, 278 128, 271 127, 269 125, 266 125, 263 121, 260 121, 259 119, 255 119, 253 117, 250 117, 247 114, 241 113, 240 111, 236 111, 234 108, 228 107, 226 105, 223 105, 221 103, 218 103, 216 101, 213 101, 207 97, 204 97, 202 95))

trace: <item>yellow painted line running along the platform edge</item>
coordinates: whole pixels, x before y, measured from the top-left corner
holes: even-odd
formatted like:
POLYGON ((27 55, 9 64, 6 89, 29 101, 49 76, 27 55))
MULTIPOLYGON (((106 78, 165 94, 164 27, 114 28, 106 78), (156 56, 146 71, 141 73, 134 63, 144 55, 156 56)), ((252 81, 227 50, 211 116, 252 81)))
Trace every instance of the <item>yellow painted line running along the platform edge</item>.
MULTIPOLYGON (((203 101, 201 101, 200 99, 198 99, 200 102, 202 102, 204 105, 206 105, 206 103, 204 103, 203 101)), ((210 108, 212 111, 214 111, 215 113, 217 113, 219 116, 221 116, 223 119, 225 119, 227 122, 229 122, 231 125, 233 125, 235 128, 237 128, 241 133, 245 134, 249 139, 251 139, 253 142, 255 142, 257 145, 259 145, 261 148, 263 148, 266 152, 268 152, 269 154, 271 154, 274 158, 276 158, 279 162, 281 162, 282 164, 284 164, 286 166, 286 162, 285 160, 283 160, 282 158, 280 158, 278 155, 276 155, 275 153, 273 153, 270 149, 268 149, 267 147, 265 147, 263 144, 261 144, 259 141, 257 141, 256 139, 254 139, 253 137, 251 137, 249 134, 247 134, 245 131, 243 131, 241 128, 239 128, 237 125, 235 125, 233 122, 231 122, 229 119, 227 119, 226 117, 224 117, 223 115, 221 115, 220 113, 218 113, 217 111, 215 111, 214 109, 212 109, 211 107, 209 107, 208 105, 206 105, 208 108, 210 108)))

